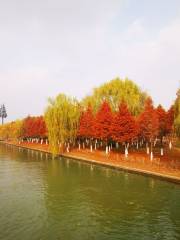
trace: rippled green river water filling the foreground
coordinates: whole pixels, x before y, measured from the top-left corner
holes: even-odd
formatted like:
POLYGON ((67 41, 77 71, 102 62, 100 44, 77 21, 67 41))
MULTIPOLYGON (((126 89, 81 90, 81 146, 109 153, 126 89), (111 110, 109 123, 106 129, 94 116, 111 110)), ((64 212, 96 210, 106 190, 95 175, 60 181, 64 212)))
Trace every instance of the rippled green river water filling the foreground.
POLYGON ((0 239, 180 239, 180 185, 0 144, 0 239))

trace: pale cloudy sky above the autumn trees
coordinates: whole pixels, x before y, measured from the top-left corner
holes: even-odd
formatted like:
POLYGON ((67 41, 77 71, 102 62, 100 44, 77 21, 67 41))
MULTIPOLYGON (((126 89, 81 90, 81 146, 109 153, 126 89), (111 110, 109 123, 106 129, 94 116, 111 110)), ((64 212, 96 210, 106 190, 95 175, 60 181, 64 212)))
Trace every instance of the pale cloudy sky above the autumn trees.
POLYGON ((0 0, 0 104, 6 121, 43 114, 133 80, 166 109, 180 87, 179 0, 0 0))

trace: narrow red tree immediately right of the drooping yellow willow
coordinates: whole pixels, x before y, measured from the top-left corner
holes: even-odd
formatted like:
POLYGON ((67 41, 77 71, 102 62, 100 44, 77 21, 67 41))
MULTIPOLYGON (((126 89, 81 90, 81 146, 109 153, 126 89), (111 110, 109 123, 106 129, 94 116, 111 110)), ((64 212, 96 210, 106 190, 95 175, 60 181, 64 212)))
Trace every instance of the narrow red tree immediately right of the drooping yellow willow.
POLYGON ((94 127, 94 115, 92 112, 92 107, 89 104, 87 110, 81 113, 78 136, 82 138, 92 138, 93 127, 94 127))

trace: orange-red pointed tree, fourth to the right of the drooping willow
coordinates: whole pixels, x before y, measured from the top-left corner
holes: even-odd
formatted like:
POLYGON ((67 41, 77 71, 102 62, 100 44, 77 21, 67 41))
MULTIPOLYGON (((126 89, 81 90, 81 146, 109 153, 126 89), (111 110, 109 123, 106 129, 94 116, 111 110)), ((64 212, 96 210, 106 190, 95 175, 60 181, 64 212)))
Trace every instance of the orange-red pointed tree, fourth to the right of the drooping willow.
POLYGON ((139 127, 141 137, 152 144, 158 136, 159 121, 151 98, 147 98, 145 102, 144 111, 139 117, 139 127))

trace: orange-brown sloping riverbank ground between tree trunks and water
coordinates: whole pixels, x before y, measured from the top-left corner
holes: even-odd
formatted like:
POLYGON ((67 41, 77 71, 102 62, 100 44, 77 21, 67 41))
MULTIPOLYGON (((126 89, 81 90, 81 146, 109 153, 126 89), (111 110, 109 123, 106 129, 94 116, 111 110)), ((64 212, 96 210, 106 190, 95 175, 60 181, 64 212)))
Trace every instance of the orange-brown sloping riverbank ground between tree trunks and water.
MULTIPOLYGON (((4 143, 51 153, 49 146, 46 144, 27 142, 19 144, 15 141, 8 141, 4 143)), ((168 155, 171 156, 172 159, 167 156, 157 155, 153 161, 150 160, 148 155, 142 152, 132 152, 127 158, 125 158, 124 154, 121 153, 111 152, 109 155, 106 155, 104 151, 96 150, 91 152, 89 149, 72 149, 69 153, 61 154, 61 156, 180 183, 180 159, 177 158, 176 152, 175 154, 172 153, 171 155, 168 155)))

